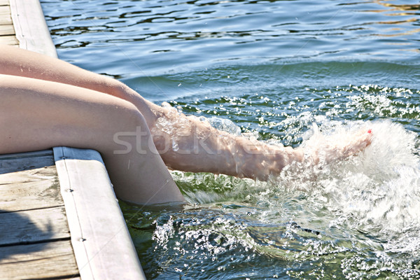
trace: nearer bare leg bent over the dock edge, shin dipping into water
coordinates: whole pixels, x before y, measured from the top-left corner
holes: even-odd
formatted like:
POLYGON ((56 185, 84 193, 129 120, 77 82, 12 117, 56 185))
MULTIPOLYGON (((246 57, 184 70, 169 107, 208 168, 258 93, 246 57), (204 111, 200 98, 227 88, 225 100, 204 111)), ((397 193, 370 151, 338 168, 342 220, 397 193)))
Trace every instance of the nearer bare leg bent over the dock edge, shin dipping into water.
POLYGON ((53 146, 102 154, 116 195, 141 204, 182 201, 135 106, 109 94, 0 75, 0 153, 53 146))

